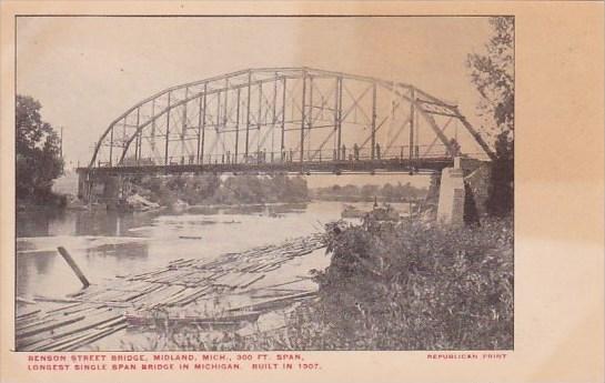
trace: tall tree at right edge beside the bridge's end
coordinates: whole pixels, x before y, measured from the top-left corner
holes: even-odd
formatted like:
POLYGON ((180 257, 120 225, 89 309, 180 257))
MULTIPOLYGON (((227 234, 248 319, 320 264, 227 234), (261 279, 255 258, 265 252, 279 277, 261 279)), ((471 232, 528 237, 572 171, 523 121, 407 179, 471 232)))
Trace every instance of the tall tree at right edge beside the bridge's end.
POLYGON ((471 81, 482 99, 478 105, 483 130, 495 133, 495 160, 487 196, 487 212, 505 216, 513 212, 514 182, 514 18, 490 18, 492 37, 485 54, 468 54, 471 81))

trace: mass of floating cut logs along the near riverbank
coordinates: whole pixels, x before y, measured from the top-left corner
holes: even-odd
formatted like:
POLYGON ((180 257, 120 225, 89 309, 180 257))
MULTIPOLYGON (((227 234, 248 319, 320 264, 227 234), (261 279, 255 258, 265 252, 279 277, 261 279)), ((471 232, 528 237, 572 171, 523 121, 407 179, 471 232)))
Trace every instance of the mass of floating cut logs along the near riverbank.
POLYGON ((163 323, 238 325, 313 296, 307 276, 280 272, 285 263, 324 248, 322 235, 228 253, 215 260, 177 260, 119 275, 65 299, 51 310, 18 310, 18 351, 73 351, 129 326, 163 323), (284 274, 284 275, 282 275, 284 274))

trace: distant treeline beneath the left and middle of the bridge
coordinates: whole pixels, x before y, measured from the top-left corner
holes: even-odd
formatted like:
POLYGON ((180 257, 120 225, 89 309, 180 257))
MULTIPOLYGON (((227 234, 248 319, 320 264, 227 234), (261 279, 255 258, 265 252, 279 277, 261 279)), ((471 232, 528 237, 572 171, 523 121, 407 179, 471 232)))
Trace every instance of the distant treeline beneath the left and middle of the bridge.
POLYGON ((133 181, 132 193, 168 205, 181 200, 189 204, 240 204, 304 202, 309 200, 306 180, 302 177, 179 175, 143 177, 133 181))

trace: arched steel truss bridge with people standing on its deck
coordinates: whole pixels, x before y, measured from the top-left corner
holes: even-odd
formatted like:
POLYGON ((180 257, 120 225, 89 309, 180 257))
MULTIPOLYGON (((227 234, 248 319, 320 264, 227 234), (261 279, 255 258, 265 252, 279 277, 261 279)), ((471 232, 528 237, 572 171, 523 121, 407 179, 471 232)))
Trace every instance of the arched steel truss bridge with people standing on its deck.
POLYGON ((434 171, 468 155, 467 144, 493 159, 455 104, 414 85, 304 67, 261 68, 169 88, 137 103, 110 123, 81 171, 434 171))

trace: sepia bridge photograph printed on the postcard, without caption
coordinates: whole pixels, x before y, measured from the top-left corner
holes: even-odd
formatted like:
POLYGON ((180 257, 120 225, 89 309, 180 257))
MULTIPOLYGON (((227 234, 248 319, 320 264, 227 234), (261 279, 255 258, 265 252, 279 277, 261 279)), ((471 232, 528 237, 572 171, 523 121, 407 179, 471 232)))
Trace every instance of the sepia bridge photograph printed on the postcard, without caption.
POLYGON ((16 351, 515 349, 515 17, 31 14, 14 48, 16 351))

